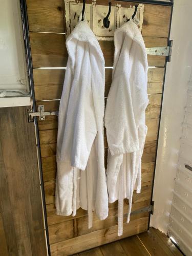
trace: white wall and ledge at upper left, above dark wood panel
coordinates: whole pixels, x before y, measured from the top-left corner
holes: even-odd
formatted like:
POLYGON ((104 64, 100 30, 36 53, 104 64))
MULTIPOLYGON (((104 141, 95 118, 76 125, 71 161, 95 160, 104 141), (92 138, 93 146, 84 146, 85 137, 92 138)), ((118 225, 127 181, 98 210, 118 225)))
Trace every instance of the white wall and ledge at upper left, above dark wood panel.
POLYGON ((29 96, 29 84, 20 4, 0 0, 0 107, 25 104, 21 96, 29 96))

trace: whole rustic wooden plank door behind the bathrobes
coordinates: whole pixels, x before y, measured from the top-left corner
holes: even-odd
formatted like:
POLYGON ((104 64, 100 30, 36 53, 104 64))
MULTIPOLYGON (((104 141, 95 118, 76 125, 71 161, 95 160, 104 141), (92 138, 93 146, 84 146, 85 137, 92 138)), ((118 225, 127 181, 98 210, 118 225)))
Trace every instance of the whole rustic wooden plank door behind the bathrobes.
MULTIPOLYGON (((87 1, 89 3, 89 1, 87 1)), ((111 1, 112 6, 130 7, 134 3, 111 1)), ((97 4, 108 5, 98 0, 97 4)), ((63 0, 27 0, 30 45, 36 104, 43 104, 45 111, 56 111, 62 92, 68 54, 65 45, 65 18, 63 0)), ((146 47, 167 46, 171 7, 144 5, 142 35, 146 47)), ((113 66, 114 42, 99 41, 105 66, 113 66)), ((151 204, 158 125, 165 71, 164 56, 148 56, 148 97, 146 110, 148 133, 142 157, 141 194, 134 193, 132 210, 151 204)), ((112 69, 105 70, 105 96, 108 96, 112 69)), ((147 230, 149 214, 131 217, 124 223, 123 236, 117 236, 117 202, 110 204, 109 217, 99 221, 93 216, 93 227, 88 229, 87 211, 79 209, 75 217, 55 214, 56 137, 58 120, 55 116, 38 122, 42 172, 44 176, 49 242, 52 255, 69 255, 101 244, 129 237, 147 230)), ((107 152, 105 138, 105 151, 107 152)), ((127 201, 125 200, 125 212, 127 201)))

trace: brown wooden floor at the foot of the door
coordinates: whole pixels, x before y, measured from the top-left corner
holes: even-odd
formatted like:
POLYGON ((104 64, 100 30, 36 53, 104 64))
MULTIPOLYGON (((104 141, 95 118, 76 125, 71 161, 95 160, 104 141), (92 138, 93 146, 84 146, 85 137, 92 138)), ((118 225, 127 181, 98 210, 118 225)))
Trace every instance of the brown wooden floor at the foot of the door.
POLYGON ((182 255, 177 247, 161 233, 158 229, 150 228, 149 231, 140 233, 136 236, 122 239, 118 242, 106 244, 92 250, 83 251, 75 256, 164 256, 182 255))

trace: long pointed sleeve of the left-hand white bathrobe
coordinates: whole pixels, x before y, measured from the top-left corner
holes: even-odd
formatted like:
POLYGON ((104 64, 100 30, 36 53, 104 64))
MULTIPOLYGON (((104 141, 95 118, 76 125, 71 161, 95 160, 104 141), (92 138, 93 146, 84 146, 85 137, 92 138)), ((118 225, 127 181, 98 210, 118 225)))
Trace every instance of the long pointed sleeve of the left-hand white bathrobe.
POLYGON ((61 129, 59 133, 60 142, 57 140, 60 147, 58 156, 60 160, 70 162, 71 166, 84 170, 97 134, 91 88, 90 49, 88 42, 83 41, 68 42, 68 48, 72 78, 66 83, 71 82, 71 90, 69 99, 65 95, 66 90, 62 93, 65 110, 60 106, 59 112, 65 116, 65 129, 61 129), (73 44, 76 44, 75 51, 72 51, 73 44))

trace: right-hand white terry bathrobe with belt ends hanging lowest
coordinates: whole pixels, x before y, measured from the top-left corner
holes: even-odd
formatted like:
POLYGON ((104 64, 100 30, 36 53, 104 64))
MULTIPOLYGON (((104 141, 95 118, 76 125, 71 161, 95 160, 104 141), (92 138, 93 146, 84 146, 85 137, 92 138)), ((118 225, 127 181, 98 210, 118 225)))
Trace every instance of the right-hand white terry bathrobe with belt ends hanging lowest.
POLYGON ((134 189, 141 190, 141 157, 146 137, 147 54, 137 25, 130 20, 115 31, 115 54, 105 127, 108 139, 109 202, 119 200, 118 235, 123 227, 123 199, 129 199, 130 221, 134 189))

